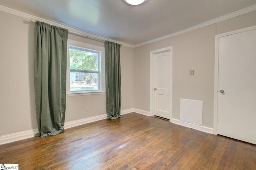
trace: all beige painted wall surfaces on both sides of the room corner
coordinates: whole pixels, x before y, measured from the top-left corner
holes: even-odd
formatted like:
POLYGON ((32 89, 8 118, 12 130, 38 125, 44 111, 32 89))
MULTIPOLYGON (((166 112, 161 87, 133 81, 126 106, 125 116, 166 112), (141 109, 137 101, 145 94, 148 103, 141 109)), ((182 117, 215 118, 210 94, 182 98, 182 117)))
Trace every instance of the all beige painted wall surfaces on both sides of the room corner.
MULTIPOLYGON (((149 111, 150 51, 173 46, 173 118, 180 118, 180 98, 203 100, 203 125, 213 127, 215 35, 256 25, 256 11, 158 42, 121 48, 121 109, 149 111), (195 75, 190 76, 190 70, 195 75)), ((37 128, 34 102, 34 24, 0 11, 0 136, 37 128)), ((69 34, 93 45, 102 42, 69 34)), ((66 122, 106 113, 105 94, 69 96, 66 122), (86 106, 90 105, 90 110, 86 106)))

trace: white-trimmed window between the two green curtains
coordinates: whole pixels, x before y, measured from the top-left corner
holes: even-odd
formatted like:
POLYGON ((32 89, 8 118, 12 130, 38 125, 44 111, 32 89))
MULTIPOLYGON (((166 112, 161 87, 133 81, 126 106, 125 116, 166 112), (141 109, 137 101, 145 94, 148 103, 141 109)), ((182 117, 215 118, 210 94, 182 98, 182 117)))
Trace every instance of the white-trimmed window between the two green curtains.
POLYGON ((68 41, 68 94, 104 92, 105 88, 102 84, 105 84, 105 63, 102 62, 105 60, 102 56, 104 56, 103 47, 68 41))

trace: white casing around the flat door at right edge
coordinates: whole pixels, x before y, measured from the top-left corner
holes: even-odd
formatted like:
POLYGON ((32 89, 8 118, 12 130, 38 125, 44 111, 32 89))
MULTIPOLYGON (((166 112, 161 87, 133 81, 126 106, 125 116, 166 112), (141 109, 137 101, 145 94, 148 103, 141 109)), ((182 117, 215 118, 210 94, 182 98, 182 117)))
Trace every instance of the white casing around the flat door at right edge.
POLYGON ((218 84, 219 84, 219 42, 220 38, 223 36, 229 36, 232 34, 238 34, 241 32, 246 32, 250 30, 255 30, 256 26, 250 26, 247 28, 242 28, 239 30, 234 30, 230 32, 225 32, 223 34, 218 34, 215 36, 215 70, 214 70, 214 108, 213 108, 213 134, 217 135, 218 126, 218 84))

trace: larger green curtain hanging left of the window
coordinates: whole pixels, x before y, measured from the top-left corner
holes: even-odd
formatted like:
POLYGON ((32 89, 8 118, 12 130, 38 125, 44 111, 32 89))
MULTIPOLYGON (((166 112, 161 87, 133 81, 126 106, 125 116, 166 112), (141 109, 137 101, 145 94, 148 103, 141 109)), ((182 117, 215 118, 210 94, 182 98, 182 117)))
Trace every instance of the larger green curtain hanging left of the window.
POLYGON ((44 22, 34 28, 36 119, 42 138, 64 132, 68 30, 44 22))

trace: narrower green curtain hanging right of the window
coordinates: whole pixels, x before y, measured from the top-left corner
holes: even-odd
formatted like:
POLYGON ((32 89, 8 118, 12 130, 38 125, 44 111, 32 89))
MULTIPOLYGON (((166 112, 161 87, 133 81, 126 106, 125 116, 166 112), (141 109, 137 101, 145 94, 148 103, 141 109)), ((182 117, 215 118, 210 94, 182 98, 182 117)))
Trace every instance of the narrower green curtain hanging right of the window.
POLYGON ((105 42, 106 51, 106 108, 108 117, 116 119, 121 114, 120 44, 105 42))

